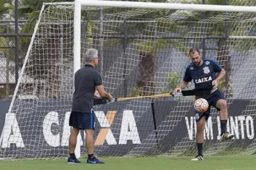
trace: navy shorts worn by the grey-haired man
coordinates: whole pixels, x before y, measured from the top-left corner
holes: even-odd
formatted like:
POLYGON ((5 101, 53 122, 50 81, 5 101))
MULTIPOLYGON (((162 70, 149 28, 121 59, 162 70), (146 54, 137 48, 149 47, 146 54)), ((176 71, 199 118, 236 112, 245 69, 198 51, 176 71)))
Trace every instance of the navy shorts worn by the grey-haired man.
POLYGON ((77 129, 92 129, 94 128, 94 112, 82 113, 72 111, 69 117, 69 126, 77 129))

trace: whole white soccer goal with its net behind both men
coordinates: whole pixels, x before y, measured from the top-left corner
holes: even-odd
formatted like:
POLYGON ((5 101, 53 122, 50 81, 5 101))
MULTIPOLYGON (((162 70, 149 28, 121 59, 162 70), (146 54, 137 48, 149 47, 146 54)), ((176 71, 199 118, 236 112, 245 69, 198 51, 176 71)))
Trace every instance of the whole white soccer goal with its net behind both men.
MULTIPOLYGON (((227 71, 219 88, 228 101, 228 130, 236 137, 219 141, 220 120, 212 108, 205 154, 256 152, 253 3, 44 3, 5 115, 0 159, 68 156, 74 73, 85 64, 89 48, 99 51, 97 69, 114 97, 172 91, 190 62, 189 49, 204 49, 206 57, 227 71)), ((193 87, 191 83, 188 89, 193 87)), ((194 98, 184 97, 95 105, 95 154, 192 155, 196 152, 193 102, 194 98)), ((81 132, 78 157, 86 153, 84 139, 81 132)))

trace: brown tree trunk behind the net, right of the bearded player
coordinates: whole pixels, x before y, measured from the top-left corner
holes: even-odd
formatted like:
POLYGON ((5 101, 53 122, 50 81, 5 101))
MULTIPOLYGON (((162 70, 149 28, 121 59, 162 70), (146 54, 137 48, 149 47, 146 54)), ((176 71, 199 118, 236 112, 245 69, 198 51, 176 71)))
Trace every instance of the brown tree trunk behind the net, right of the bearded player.
POLYGON ((217 62, 222 68, 226 70, 226 75, 224 77, 224 86, 222 91, 226 94, 226 98, 233 97, 233 87, 232 87, 232 68, 230 65, 230 54, 229 46, 226 40, 219 40, 218 51, 217 51, 217 62))

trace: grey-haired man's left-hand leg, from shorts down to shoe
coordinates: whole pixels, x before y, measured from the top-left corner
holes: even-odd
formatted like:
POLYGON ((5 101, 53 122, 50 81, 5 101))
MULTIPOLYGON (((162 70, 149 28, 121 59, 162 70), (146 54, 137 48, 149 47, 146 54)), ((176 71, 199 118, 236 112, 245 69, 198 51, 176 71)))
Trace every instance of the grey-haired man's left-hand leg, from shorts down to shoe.
POLYGON ((71 131, 71 133, 69 135, 69 139, 68 139, 69 157, 68 157, 67 163, 69 163, 69 164, 81 163, 81 161, 79 161, 75 156, 77 136, 79 134, 76 112, 71 112, 70 117, 69 117, 69 126, 72 126, 73 128, 72 128, 72 131, 71 131))

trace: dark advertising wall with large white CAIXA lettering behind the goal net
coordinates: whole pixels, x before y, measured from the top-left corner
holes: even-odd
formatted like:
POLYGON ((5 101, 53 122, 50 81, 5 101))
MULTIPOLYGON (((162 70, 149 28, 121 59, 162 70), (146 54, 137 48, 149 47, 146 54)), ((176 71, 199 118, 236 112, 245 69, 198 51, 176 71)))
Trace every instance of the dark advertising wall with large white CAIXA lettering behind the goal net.
MULTIPOLYGON (((245 149, 243 151, 246 151, 254 146, 256 115, 245 112, 250 102, 253 101, 235 100, 229 105, 228 131, 234 133, 236 139, 225 143, 228 145, 228 150, 243 148, 245 149)), ((64 106, 64 101, 53 100, 50 105, 42 106, 43 111, 40 110, 42 107, 37 107, 39 109, 35 110, 33 115, 23 115, 19 118, 14 114, 6 114, 9 104, 10 101, 0 101, 1 158, 10 155, 19 157, 19 154, 26 154, 28 157, 30 155, 37 155, 36 157, 65 157, 68 155, 70 111, 69 108, 63 111, 65 109, 56 107, 56 105, 64 106), (36 119, 31 119, 26 125, 22 124, 24 122, 22 119, 27 119, 27 117, 36 119), (14 122, 12 126, 10 122, 14 122), (2 133, 4 126, 11 130, 8 133, 2 133), (30 131, 31 129, 33 131, 30 131)), ((102 105, 95 112, 95 153, 101 156, 123 156, 195 152, 196 125, 193 108, 191 107, 179 120, 172 122, 171 120, 174 118, 170 116, 171 111, 176 109, 179 104, 186 104, 186 101, 155 101, 155 120, 151 108, 147 114, 137 119, 134 113, 138 112, 139 108, 125 110, 124 107, 127 104, 129 101, 102 105), (172 128, 170 129, 170 127, 172 128), (185 146, 184 143, 191 146, 191 149, 188 150, 188 146, 185 146), (149 146, 150 150, 147 149, 149 146), (183 148, 186 148, 186 151, 183 148)), ((28 103, 27 107, 33 107, 33 102, 28 103)), ((214 146, 208 146, 206 153, 216 147, 219 135, 220 121, 216 114, 212 114, 206 126, 205 145, 214 143, 214 146)), ((82 133, 81 138, 84 137, 82 133)), ((81 142, 81 145, 83 146, 84 143, 81 142)), ((85 147, 82 147, 82 155, 85 153, 85 147)))

